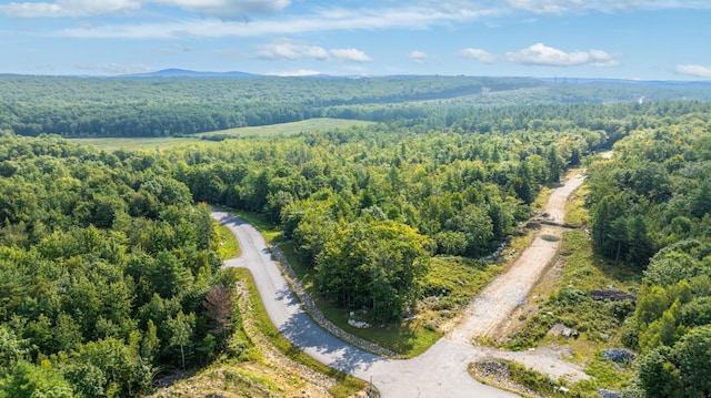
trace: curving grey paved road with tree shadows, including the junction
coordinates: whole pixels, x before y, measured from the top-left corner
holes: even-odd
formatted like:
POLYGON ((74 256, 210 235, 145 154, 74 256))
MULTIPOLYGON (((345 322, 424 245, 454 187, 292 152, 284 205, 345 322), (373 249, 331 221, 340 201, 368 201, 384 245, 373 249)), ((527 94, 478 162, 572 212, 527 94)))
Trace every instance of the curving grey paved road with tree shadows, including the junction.
POLYGON ((234 233, 242 249, 242 256, 227 261, 226 266, 247 267, 252 272, 271 320, 313 358, 364 380, 372 377, 383 398, 518 397, 469 376, 468 365, 481 359, 481 354, 467 344, 441 339, 419 357, 397 360, 381 358, 336 338, 303 312, 259 231, 227 213, 214 212, 212 217, 234 233))

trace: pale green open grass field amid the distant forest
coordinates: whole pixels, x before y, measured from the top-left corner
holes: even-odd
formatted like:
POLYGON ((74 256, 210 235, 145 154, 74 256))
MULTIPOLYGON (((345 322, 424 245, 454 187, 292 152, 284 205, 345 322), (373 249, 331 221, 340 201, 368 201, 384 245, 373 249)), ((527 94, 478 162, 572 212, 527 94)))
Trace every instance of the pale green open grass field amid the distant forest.
POLYGON ((260 125, 253 127, 240 127, 230 130, 210 131, 206 133, 194 134, 189 137, 102 137, 102 139, 70 139, 76 143, 96 146, 104 151, 161 151, 177 146, 186 145, 216 145, 217 142, 202 140, 202 137, 220 136, 220 137, 251 137, 251 136, 274 136, 274 135, 292 135, 311 131, 329 131, 336 129, 348 129, 351 126, 361 126, 373 124, 373 122, 364 122, 360 120, 344 119, 309 119, 300 122, 281 123, 272 125, 260 125))

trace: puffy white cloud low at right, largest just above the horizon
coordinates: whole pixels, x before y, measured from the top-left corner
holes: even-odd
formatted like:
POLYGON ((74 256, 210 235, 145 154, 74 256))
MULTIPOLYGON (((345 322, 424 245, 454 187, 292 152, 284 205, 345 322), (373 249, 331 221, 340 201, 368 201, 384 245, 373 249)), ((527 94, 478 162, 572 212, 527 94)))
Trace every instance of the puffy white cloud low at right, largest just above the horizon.
POLYGON ((564 52, 543 43, 533 44, 527 49, 507 52, 507 60, 525 65, 545 67, 618 67, 620 62, 612 55, 600 50, 564 52))

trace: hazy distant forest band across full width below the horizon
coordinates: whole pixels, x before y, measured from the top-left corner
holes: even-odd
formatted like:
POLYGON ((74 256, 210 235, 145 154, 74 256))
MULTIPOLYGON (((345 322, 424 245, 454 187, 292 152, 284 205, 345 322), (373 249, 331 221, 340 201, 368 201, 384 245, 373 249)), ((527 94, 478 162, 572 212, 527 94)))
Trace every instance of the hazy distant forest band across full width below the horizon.
MULTIPOLYGON (((478 120, 479 131, 485 133, 504 119, 499 116, 501 108, 711 99, 703 85, 564 82, 473 76, 0 75, 0 131, 68 137, 176 136, 312 118, 398 120, 410 125, 434 119, 439 125, 465 114, 478 120)), ((523 118, 527 113, 515 114, 523 118)), ((511 127, 509 122, 520 123, 508 119, 502 121, 504 130, 511 127)))

